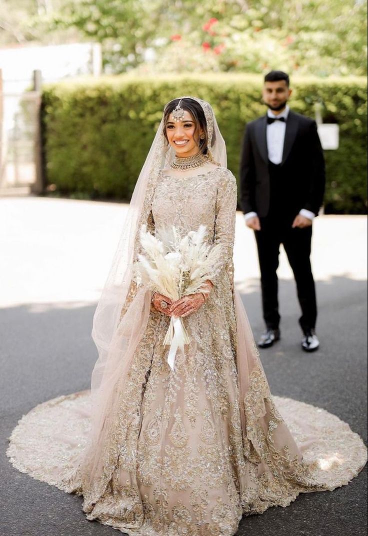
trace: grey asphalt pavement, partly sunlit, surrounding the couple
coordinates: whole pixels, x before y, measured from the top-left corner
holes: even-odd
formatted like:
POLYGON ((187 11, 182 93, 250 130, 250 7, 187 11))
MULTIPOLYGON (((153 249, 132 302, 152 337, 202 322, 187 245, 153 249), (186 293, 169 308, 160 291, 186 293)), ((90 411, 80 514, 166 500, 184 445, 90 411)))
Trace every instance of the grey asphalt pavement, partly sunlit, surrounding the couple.
MULTIPOLYGON (((79 497, 13 470, 7 440, 20 416, 60 394, 88 388, 96 358, 95 301, 119 235, 123 205, 0 199, 0 536, 102 536, 79 497)), ((318 353, 299 350, 295 285, 281 257, 283 339, 262 352, 271 390, 326 408, 366 441, 366 218, 315 221, 318 353)), ((235 279, 255 334, 262 330, 251 232, 237 221, 235 279)), ((363 536, 366 471, 333 493, 242 520, 237 536, 363 536)))

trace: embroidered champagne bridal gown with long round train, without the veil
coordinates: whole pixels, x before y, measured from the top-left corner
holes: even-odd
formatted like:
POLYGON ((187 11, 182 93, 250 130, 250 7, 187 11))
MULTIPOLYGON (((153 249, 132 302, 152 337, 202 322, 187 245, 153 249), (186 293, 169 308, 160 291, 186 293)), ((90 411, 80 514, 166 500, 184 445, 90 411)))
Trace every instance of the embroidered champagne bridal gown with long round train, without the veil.
MULTIPOLYGON (((172 371, 161 344, 170 318, 150 312, 114 394, 118 411, 98 478, 78 466, 90 426, 87 391, 40 404, 19 421, 8 449, 14 467, 83 494, 88 519, 131 536, 231 536, 244 514, 347 484, 366 461, 360 437, 324 410, 272 397, 250 331, 237 370, 233 175, 222 167, 192 177, 160 172, 148 202, 151 232, 174 225, 186 234, 204 224, 208 242, 222 247, 207 302, 184 319, 190 344, 172 371)), ((122 314, 139 292, 131 285, 122 314)))

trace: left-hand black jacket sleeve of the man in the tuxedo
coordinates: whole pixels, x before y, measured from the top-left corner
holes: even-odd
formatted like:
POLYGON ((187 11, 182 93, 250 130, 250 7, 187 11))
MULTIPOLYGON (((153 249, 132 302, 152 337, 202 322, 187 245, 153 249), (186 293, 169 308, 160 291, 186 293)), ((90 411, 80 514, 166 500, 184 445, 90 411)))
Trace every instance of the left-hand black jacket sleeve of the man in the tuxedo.
POLYGON ((240 161, 240 206, 244 214, 255 210, 255 166, 249 125, 245 130, 240 161))

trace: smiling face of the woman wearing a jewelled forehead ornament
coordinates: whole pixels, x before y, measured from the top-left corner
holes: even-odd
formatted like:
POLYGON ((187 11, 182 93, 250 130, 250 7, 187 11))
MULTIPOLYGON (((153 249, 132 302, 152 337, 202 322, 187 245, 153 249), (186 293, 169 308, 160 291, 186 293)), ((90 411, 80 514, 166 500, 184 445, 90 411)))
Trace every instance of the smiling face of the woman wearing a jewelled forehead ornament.
POLYGON ((196 129, 195 121, 189 111, 184 110, 181 121, 174 121, 172 114, 166 124, 168 143, 174 148, 178 157, 192 157, 199 151, 202 131, 196 129))

